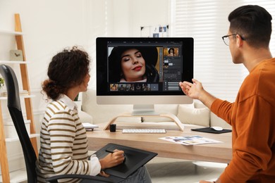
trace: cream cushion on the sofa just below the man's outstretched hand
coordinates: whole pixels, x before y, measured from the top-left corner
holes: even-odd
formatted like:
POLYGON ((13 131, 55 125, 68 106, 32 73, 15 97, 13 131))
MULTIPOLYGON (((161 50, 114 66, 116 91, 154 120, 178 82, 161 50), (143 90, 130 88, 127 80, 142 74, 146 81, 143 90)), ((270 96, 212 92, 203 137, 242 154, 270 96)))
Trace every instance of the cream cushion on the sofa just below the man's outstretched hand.
POLYGON ((178 106, 178 119, 184 124, 200 125, 209 127, 209 108, 190 108, 189 106, 178 106))

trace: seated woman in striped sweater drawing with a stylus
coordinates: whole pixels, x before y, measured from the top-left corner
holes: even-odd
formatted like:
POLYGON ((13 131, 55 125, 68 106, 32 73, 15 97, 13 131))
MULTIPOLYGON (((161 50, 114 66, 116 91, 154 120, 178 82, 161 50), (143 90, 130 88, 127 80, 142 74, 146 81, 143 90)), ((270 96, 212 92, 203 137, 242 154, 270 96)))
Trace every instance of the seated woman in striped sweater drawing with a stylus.
MULTIPOLYGON (((100 160, 93 155, 88 160, 86 131, 73 100, 79 92, 87 91, 89 67, 88 54, 75 46, 57 53, 49 63, 49 79, 42 83, 42 91, 51 102, 41 125, 37 161, 39 182, 62 174, 101 175, 113 179, 114 182, 126 181, 101 171, 123 163, 123 151, 116 150, 100 160)), ((140 182, 140 179, 151 182, 146 168, 140 168, 127 179, 131 182, 140 182)), ((63 179, 63 182, 76 180, 63 179)))

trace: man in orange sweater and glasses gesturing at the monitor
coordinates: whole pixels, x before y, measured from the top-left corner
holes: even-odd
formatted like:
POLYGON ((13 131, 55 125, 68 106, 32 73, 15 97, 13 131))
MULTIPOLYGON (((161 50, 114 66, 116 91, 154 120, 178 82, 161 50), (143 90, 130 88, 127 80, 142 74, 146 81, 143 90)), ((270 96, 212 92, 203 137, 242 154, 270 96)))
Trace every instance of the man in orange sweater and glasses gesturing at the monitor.
POLYGON ((236 8, 228 16, 230 27, 222 38, 229 46, 233 63, 243 63, 250 72, 234 103, 216 99, 197 80, 180 82, 186 95, 202 101, 232 126, 233 158, 216 182, 275 180, 275 58, 269 51, 271 19, 264 8, 251 5, 236 8))

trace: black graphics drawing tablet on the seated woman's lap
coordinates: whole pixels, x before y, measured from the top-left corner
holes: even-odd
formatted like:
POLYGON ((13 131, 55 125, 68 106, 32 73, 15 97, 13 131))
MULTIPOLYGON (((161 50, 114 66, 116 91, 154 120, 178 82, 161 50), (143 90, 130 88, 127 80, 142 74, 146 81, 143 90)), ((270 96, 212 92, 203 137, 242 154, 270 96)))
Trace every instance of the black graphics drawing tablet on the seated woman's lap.
POLYGON ((99 149, 94 154, 97 155, 97 158, 102 159, 108 154, 106 150, 114 151, 115 149, 124 151, 124 156, 126 157, 125 162, 115 167, 107 168, 104 171, 110 175, 121 178, 128 177, 135 172, 135 170, 138 170, 138 168, 154 158, 154 156, 157 156, 157 153, 151 151, 144 151, 142 149, 135 149, 129 146, 122 146, 112 143, 102 147, 102 149, 99 149))

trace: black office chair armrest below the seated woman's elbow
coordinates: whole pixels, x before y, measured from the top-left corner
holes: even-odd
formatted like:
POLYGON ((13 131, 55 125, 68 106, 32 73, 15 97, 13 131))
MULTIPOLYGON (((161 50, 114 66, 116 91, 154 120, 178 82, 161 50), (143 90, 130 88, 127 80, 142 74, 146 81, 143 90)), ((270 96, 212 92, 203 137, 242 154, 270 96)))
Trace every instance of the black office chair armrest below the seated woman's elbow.
POLYGON ((90 180, 97 180, 99 182, 113 182, 111 179, 108 179, 106 177, 97 177, 92 175, 80 175, 80 174, 55 175, 53 177, 48 177, 46 181, 52 182, 52 183, 58 183, 57 182, 58 179, 68 179, 68 178, 90 179, 90 180))

